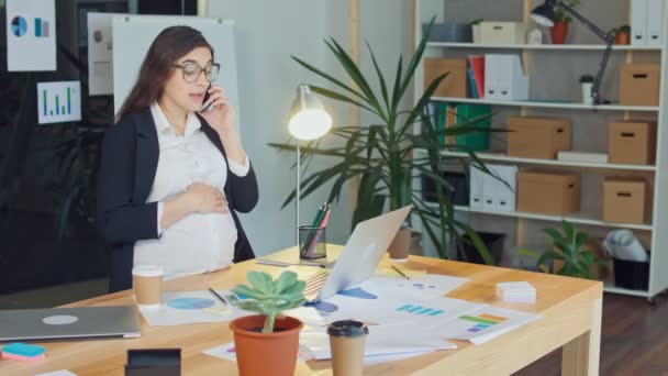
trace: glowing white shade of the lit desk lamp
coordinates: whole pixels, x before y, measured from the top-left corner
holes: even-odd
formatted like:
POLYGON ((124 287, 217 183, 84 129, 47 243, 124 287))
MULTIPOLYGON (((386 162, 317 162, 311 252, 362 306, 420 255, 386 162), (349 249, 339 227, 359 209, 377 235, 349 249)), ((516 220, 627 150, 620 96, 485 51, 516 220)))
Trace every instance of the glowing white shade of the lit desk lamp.
POLYGON ((297 140, 310 141, 322 137, 332 128, 332 117, 322 101, 307 85, 297 88, 297 98, 290 110, 288 129, 297 140))

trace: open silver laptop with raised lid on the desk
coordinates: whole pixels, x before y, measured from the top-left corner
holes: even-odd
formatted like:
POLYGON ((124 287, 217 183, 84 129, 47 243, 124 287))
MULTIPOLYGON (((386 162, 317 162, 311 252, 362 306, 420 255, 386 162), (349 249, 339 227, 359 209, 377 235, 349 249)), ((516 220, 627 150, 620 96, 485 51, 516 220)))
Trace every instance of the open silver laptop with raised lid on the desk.
MULTIPOLYGON (((309 269, 304 290, 307 301, 326 299, 369 278, 412 208, 408 206, 359 222, 331 270, 309 269)), ((298 274, 302 276, 302 273, 298 274)))

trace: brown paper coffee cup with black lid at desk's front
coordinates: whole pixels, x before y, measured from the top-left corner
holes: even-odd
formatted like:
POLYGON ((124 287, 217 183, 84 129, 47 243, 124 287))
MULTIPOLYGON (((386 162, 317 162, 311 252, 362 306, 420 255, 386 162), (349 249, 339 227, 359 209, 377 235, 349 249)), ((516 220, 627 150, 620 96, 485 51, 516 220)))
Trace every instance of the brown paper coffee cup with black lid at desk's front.
POLYGON ((327 327, 334 376, 361 376, 369 329, 364 322, 344 320, 327 327))

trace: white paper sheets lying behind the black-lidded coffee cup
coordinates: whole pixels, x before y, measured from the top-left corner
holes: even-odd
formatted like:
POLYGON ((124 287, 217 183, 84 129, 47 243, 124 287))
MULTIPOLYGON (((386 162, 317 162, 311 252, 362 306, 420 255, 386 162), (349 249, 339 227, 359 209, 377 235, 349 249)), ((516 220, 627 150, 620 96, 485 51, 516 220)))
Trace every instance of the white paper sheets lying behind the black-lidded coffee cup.
MULTIPOLYGON (((332 357, 330 335, 324 330, 302 331, 299 335, 299 343, 309 349, 315 360, 332 357)), ((416 324, 371 325, 364 354, 375 356, 452 349, 457 349, 457 345, 416 324)))

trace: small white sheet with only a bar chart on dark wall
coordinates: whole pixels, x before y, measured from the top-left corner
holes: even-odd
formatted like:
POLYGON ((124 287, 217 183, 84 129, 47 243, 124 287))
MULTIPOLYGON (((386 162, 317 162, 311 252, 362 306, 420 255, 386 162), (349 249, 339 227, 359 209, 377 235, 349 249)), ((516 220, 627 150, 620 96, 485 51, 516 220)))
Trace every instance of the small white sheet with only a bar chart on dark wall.
POLYGON ((81 120, 81 82, 37 82, 40 124, 81 120))

